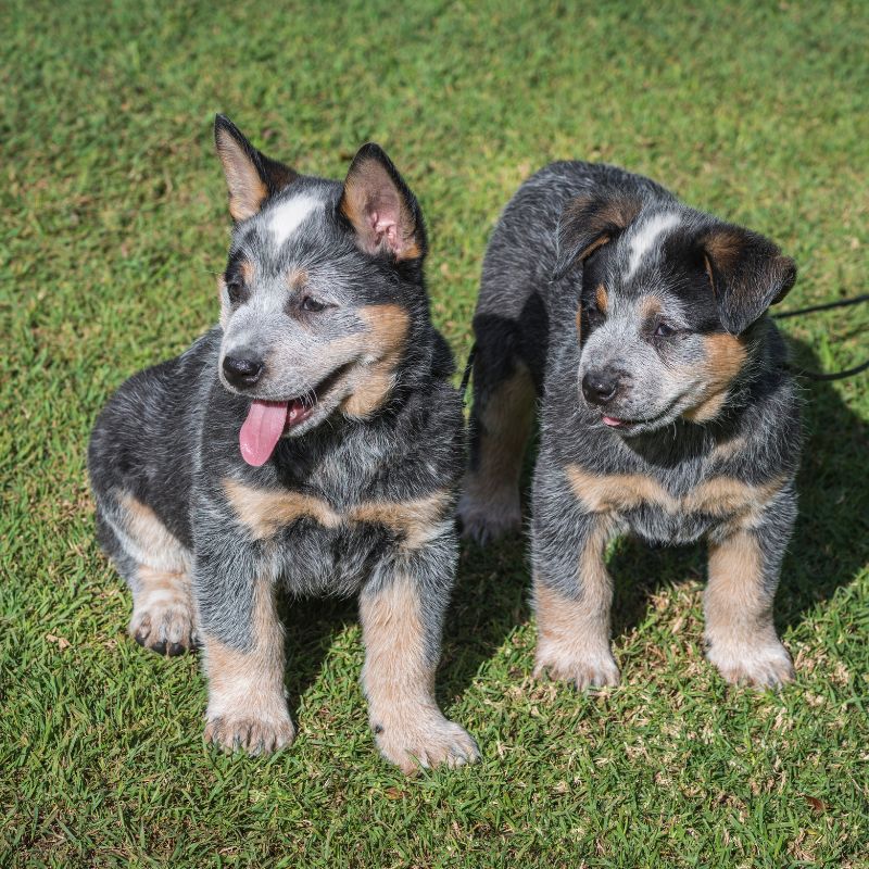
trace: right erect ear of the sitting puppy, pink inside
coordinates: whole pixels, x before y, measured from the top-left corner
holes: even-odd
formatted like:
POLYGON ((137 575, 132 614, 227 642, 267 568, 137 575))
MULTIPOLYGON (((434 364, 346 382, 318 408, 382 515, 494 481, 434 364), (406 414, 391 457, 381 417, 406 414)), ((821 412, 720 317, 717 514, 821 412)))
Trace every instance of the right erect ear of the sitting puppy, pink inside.
POLYGON ((426 228, 416 197, 380 146, 360 148, 338 205, 366 253, 387 252, 398 262, 426 254, 426 228))

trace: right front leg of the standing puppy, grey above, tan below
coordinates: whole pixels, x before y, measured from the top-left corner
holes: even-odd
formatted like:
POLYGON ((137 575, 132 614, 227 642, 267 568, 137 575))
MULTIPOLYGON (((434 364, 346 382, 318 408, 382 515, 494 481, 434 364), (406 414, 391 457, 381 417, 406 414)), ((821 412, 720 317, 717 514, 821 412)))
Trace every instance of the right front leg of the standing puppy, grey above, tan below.
POLYGON ((732 684, 779 688, 794 677, 772 603, 795 517, 796 496, 786 487, 745 527, 709 540, 706 656, 732 684))

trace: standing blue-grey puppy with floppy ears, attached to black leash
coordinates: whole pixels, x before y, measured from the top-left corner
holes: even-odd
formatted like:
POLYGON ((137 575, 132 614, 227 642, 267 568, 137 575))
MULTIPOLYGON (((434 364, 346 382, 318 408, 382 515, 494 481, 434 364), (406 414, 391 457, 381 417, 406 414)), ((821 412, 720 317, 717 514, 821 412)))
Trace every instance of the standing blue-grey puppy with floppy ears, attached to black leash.
POLYGON ((796 278, 768 239, 621 169, 555 163, 504 211, 474 320, 470 467, 459 514, 480 541, 532 498, 538 673, 613 685, 616 536, 705 540, 707 656, 729 682, 793 676, 772 604, 796 516, 801 426, 766 311, 796 278))

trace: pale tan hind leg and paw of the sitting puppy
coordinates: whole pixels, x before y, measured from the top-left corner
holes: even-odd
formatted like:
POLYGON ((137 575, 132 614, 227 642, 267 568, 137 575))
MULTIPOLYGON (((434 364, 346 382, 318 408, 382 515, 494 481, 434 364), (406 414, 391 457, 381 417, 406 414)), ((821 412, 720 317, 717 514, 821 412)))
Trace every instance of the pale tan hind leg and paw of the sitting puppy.
POLYGON ((129 633, 158 654, 179 655, 197 642, 190 554, 141 501, 125 492, 100 499, 100 540, 133 592, 129 633))

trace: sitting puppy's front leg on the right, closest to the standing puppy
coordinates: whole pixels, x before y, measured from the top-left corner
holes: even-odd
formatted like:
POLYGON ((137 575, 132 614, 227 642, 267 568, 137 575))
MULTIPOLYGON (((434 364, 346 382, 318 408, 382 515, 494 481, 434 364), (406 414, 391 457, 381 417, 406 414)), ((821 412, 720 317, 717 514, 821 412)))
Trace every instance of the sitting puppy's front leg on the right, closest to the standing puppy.
POLYGON ((375 742, 404 772, 480 756, 474 739, 434 700, 443 614, 455 566, 449 532, 425 552, 382 562, 360 596, 362 682, 375 742))

